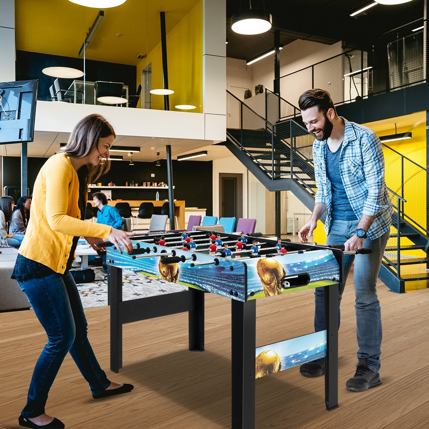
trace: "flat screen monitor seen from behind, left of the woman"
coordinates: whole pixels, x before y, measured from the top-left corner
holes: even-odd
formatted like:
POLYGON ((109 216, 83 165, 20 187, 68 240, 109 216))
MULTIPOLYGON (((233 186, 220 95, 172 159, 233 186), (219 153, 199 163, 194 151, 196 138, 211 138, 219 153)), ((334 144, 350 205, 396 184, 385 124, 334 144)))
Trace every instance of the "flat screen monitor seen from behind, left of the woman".
POLYGON ((0 83, 0 144, 33 141, 37 82, 0 83))

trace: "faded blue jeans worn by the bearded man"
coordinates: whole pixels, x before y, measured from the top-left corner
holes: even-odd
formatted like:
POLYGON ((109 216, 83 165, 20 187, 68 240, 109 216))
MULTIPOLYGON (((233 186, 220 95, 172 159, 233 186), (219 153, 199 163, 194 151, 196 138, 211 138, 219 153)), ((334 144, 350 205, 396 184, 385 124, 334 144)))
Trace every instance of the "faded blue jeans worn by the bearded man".
MULTIPOLYGON (((331 229, 326 237, 326 244, 344 244, 356 231, 359 221, 332 221, 331 229)), ((363 247, 372 249, 371 254, 344 255, 344 283, 338 287, 338 329, 340 327, 340 302, 347 275, 354 261, 353 282, 356 294, 356 336, 359 350, 358 358, 365 358, 367 366, 374 372, 379 372, 381 361, 381 309, 377 297, 377 277, 380 271, 384 249, 389 239, 389 231, 378 239, 363 240, 363 247)), ((323 287, 317 287, 315 292, 314 331, 325 329, 323 318, 323 287)))

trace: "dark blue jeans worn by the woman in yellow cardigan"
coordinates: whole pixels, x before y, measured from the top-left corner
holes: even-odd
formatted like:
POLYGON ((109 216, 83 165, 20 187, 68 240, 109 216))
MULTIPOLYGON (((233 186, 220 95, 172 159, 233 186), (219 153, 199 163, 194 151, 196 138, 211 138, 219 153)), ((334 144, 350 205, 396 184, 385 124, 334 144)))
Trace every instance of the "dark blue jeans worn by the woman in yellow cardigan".
POLYGON ((92 394, 106 390, 110 381, 89 344, 82 302, 70 272, 32 278, 18 285, 48 335, 48 344, 34 368, 22 415, 32 418, 45 412, 49 389, 68 351, 92 394))

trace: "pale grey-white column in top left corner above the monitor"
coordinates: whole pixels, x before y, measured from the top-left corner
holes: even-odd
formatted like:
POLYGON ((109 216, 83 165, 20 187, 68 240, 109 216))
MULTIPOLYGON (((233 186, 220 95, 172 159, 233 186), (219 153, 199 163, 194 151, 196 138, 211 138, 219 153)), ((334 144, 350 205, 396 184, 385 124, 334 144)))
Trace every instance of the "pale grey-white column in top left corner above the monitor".
POLYGON ((15 81, 15 0, 0 0, 0 82, 15 81))

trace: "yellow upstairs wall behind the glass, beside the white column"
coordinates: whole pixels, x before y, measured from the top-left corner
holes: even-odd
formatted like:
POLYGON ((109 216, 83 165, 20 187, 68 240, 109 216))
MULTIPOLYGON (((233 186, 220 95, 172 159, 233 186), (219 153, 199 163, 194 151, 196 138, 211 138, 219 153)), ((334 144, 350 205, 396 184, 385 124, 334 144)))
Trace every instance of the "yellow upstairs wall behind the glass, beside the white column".
MULTIPOLYGON (((166 15, 168 19, 168 15, 166 15)), ((161 42, 137 65, 137 86, 142 70, 151 63, 152 88, 163 88, 161 42)), ((170 110, 178 104, 192 104, 202 113, 202 1, 167 34, 168 86, 170 110)), ((140 97, 142 98, 142 97, 140 97)), ((152 109, 164 109, 164 97, 151 96, 152 109)))

